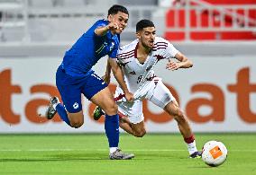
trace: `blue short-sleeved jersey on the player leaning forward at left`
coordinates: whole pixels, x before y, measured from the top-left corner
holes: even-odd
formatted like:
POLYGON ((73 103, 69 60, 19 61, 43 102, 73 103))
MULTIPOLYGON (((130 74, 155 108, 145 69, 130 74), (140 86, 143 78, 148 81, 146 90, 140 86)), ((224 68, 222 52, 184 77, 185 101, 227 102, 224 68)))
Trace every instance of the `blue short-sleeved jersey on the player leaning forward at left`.
POLYGON ((97 36, 95 33, 96 28, 106 26, 108 23, 105 20, 97 21, 66 52, 61 66, 67 74, 83 77, 101 57, 116 57, 119 34, 113 35, 111 31, 107 31, 104 36, 97 36))

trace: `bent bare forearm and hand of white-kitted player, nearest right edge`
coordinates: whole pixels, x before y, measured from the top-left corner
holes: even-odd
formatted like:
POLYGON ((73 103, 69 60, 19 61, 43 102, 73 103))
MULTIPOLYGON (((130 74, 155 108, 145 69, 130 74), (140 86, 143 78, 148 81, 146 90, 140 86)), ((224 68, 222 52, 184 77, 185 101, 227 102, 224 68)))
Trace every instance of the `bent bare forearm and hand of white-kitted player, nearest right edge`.
POLYGON ((178 59, 178 62, 175 62, 169 59, 169 62, 166 65, 167 69, 174 71, 174 70, 177 70, 178 68, 189 68, 193 66, 192 61, 189 60, 186 56, 184 56, 180 52, 178 52, 175 55, 175 58, 178 59))

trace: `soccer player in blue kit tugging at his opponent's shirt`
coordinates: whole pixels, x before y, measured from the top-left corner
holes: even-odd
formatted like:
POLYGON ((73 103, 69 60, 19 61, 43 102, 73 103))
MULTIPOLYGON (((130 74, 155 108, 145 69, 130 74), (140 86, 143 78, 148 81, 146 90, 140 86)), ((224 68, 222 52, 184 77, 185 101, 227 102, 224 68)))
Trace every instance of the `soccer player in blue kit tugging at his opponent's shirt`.
POLYGON ((97 21, 66 52, 56 73, 56 84, 63 101, 57 97, 50 98, 46 111, 47 118, 53 118, 58 112, 60 118, 70 127, 81 127, 84 115, 81 93, 105 110, 105 135, 110 147, 109 158, 114 160, 132 159, 133 153, 123 153, 118 148, 119 117, 117 105, 107 84, 91 69, 96 62, 108 55, 116 81, 123 89, 127 101, 133 101, 133 93, 129 92, 123 80, 121 68, 115 58, 119 47, 119 34, 127 26, 129 13, 122 5, 114 4, 107 14, 107 20, 97 21), (64 107, 65 106, 65 107, 64 107))

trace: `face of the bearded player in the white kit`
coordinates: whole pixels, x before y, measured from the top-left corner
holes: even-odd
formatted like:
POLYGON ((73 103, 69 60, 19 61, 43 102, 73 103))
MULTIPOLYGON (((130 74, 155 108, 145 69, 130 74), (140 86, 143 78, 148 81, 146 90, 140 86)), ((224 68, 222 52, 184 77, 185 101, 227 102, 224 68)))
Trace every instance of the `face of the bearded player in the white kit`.
POLYGON ((141 40, 143 47, 153 48, 156 38, 156 29, 154 27, 144 28, 137 33, 137 37, 141 40))

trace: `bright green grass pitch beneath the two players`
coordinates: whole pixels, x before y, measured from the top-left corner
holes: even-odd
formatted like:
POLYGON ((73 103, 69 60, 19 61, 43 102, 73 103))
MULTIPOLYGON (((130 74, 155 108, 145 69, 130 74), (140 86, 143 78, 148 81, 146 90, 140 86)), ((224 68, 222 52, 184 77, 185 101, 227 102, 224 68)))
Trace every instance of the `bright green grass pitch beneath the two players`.
POLYGON ((133 160, 108 160, 103 134, 0 135, 0 174, 256 174, 256 134, 197 134, 197 148, 208 140, 222 141, 228 158, 219 167, 187 158, 179 134, 136 138, 123 134, 120 147, 133 160))

